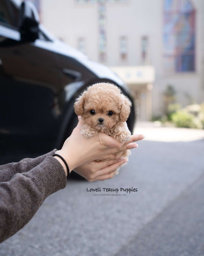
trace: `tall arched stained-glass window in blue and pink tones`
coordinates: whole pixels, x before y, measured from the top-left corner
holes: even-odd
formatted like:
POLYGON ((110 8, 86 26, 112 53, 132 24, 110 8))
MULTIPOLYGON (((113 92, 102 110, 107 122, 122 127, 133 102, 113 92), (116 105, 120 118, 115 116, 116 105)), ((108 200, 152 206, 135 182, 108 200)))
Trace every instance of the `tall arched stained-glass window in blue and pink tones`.
POLYGON ((190 0, 164 0, 165 73, 195 71, 195 9, 190 0))

